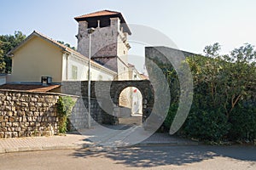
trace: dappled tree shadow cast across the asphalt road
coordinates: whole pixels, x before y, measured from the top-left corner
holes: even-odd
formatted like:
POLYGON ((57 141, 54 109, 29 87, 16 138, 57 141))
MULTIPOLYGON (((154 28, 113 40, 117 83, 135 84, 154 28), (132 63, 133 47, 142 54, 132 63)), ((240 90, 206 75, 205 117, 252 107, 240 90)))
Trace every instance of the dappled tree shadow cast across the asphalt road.
POLYGON ((256 147, 245 146, 169 146, 139 147, 108 151, 76 150, 75 157, 105 156, 127 167, 157 167, 183 165, 212 159, 214 156, 230 157, 243 161, 256 161, 256 147))

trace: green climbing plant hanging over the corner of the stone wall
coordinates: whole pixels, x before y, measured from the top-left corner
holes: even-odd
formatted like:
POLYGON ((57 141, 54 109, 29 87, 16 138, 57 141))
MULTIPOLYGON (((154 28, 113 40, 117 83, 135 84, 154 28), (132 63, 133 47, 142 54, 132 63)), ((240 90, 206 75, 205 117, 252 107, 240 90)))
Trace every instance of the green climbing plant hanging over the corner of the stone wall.
POLYGON ((67 132, 67 117, 71 115, 75 101, 70 96, 60 97, 56 103, 58 119, 59 119, 59 132, 67 132))

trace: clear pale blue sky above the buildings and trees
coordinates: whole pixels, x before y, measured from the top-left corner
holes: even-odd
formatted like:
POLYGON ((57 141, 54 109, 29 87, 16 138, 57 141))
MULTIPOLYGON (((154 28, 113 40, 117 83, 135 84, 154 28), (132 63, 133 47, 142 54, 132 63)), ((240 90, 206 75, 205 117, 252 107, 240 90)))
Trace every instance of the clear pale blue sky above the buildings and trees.
POLYGON ((245 42, 256 45, 255 0, 1 0, 0 4, 1 35, 37 30, 76 46, 78 24, 73 17, 109 9, 121 12, 127 23, 150 26, 178 48, 197 54, 214 42, 220 42, 224 54, 245 42))

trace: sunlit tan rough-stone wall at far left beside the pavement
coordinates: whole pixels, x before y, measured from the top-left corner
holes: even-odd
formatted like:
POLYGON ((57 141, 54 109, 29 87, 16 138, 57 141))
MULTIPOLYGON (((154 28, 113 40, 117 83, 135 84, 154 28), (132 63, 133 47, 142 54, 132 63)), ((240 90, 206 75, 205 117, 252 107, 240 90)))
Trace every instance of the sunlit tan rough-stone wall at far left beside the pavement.
POLYGON ((0 90, 0 138, 58 133, 56 102, 61 94, 0 90))

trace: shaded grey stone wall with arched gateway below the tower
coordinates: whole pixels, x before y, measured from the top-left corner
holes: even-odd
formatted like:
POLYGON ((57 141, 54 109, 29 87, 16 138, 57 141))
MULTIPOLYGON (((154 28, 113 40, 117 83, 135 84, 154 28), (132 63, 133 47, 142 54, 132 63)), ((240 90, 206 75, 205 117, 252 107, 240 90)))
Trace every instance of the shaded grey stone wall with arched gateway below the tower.
MULTIPOLYGON (((154 106, 154 88, 150 81, 91 81, 90 116, 100 124, 118 124, 119 95, 128 87, 137 88, 143 95, 143 122, 154 106)), ((70 121, 76 129, 87 127, 88 82, 62 82, 65 94, 79 95, 70 121)))

